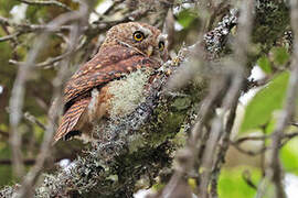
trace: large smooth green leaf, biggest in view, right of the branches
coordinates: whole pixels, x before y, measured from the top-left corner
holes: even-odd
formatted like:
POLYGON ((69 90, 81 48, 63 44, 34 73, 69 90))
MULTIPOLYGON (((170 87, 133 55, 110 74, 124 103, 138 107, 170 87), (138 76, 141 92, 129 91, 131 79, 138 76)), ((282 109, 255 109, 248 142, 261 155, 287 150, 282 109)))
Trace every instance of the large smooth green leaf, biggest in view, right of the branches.
POLYGON ((255 95, 246 108, 241 133, 258 129, 270 121, 273 111, 283 106, 288 78, 289 73, 284 72, 255 95))

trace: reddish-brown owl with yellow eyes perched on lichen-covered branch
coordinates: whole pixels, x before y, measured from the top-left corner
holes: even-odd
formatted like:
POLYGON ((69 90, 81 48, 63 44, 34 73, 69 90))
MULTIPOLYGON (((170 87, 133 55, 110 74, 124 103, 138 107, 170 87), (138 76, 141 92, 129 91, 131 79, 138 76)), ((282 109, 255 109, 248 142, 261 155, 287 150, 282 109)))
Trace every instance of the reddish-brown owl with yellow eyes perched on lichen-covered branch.
POLYGON ((113 26, 98 53, 66 82, 64 113, 53 143, 89 132, 94 121, 108 118, 113 86, 119 86, 127 74, 158 69, 168 58, 167 46, 167 35, 149 24, 113 26))

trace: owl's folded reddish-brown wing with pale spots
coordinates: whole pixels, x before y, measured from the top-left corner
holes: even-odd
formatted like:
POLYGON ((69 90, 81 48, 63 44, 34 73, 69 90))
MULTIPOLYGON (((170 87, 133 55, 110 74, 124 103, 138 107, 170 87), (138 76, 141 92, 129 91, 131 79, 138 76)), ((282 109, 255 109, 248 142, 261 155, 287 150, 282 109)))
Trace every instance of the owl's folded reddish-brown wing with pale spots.
POLYGON ((97 55, 83 65, 66 84, 64 102, 72 106, 73 101, 94 87, 102 87, 108 81, 129 74, 140 67, 159 67, 158 62, 126 46, 111 46, 102 50, 97 55))

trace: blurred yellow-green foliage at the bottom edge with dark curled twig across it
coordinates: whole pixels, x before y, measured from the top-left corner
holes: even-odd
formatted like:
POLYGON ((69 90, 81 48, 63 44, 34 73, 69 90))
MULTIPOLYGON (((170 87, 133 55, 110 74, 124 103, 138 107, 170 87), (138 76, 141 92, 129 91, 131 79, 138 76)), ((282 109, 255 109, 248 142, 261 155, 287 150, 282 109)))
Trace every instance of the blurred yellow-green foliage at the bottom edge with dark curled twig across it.
MULTIPOLYGON (((247 167, 223 168, 219 180, 219 197, 221 198, 253 198, 256 190, 249 187, 243 178, 247 167)), ((260 178, 258 169, 249 168, 252 180, 257 184, 260 178)))

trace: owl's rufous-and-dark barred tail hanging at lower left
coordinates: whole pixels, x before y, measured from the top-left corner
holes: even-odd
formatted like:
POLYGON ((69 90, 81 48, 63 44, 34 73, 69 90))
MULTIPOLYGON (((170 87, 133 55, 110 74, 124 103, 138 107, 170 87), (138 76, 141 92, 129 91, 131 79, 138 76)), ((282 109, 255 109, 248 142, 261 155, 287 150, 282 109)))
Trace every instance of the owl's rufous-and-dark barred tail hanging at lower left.
POLYGON ((89 102, 91 98, 82 98, 81 100, 75 101, 74 105, 67 109, 62 117, 56 134, 53 138, 53 144, 71 133, 78 133, 78 131, 75 130, 75 127, 89 102))

